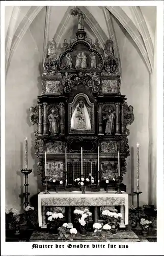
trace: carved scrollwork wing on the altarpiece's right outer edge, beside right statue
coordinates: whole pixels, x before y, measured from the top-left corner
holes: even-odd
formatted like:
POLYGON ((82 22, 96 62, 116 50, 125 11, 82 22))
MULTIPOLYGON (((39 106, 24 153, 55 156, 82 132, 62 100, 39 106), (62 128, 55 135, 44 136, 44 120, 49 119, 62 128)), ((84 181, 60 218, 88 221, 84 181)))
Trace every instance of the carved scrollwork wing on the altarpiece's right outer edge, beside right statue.
POLYGON ((127 124, 131 124, 134 121, 133 106, 124 104, 124 124, 125 124, 125 134, 128 136, 130 134, 129 129, 127 129, 127 124))

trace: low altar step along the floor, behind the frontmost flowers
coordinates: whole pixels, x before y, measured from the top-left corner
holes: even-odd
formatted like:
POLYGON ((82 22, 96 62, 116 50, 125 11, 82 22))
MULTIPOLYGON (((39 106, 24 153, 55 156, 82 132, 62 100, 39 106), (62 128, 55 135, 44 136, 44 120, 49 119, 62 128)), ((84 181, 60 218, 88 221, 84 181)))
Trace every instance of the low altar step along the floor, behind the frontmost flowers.
MULTIPOLYGON (((80 236, 79 233, 76 235, 76 239, 74 242, 99 242, 98 239, 95 239, 91 236, 90 233, 87 234, 86 237, 80 236)), ((108 234, 106 237, 107 242, 141 242, 141 239, 136 236, 136 234, 132 230, 119 230, 117 234, 108 234)), ((58 236, 53 236, 49 232, 43 231, 34 231, 30 242, 62 242, 62 240, 58 239, 58 236)), ((145 241, 143 241, 145 242, 145 241)), ((148 241, 147 241, 148 242, 148 241)))

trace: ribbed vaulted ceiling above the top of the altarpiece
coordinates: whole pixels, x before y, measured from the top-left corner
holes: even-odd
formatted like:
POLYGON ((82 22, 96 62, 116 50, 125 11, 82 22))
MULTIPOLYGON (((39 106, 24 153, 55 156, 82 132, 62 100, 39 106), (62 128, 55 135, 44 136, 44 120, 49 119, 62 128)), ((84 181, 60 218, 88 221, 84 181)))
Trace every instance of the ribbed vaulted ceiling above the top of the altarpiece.
MULTIPOLYGON (((58 45, 64 38, 68 39, 75 34, 77 19, 71 17, 68 6, 19 6, 6 7, 5 35, 6 35, 6 71, 14 51, 19 45, 25 32, 39 15, 44 16, 44 46, 54 38, 58 45)), ((131 37, 136 48, 145 61, 148 71, 153 69, 153 45, 156 29, 156 7, 119 7, 119 6, 78 6, 86 14, 85 30, 91 39, 98 38, 103 46, 108 37, 112 37, 115 55, 120 56, 117 42, 119 30, 122 27, 131 37)), ((39 32, 39 31, 38 31, 39 32)))

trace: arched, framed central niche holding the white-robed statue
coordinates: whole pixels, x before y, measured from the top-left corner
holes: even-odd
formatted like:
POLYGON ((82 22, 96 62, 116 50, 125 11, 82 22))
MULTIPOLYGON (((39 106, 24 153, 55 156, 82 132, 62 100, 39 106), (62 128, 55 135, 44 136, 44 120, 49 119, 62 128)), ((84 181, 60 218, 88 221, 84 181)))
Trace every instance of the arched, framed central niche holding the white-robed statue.
POLYGON ((69 134, 94 133, 94 103, 84 93, 69 103, 69 134))

